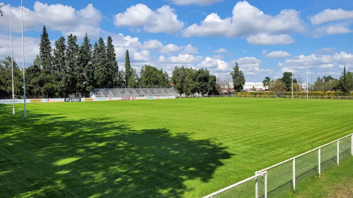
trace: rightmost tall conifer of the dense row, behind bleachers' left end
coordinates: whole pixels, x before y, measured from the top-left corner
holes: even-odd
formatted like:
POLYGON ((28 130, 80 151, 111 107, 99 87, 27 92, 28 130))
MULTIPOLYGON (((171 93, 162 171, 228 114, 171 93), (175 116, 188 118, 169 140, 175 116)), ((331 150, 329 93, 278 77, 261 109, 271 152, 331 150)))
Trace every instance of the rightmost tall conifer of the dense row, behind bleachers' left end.
POLYGON ((107 41, 107 70, 108 70, 108 85, 116 85, 119 78, 119 67, 116 61, 115 49, 112 37, 108 36, 107 41))

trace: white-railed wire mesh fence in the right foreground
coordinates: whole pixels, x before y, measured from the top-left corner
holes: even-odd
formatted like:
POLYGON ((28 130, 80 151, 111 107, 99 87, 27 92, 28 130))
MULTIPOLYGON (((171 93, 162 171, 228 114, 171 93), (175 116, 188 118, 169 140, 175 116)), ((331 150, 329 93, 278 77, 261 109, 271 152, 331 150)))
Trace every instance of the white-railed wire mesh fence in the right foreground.
POLYGON ((295 185, 321 175, 353 156, 353 134, 309 150, 203 198, 280 198, 295 191, 295 185))

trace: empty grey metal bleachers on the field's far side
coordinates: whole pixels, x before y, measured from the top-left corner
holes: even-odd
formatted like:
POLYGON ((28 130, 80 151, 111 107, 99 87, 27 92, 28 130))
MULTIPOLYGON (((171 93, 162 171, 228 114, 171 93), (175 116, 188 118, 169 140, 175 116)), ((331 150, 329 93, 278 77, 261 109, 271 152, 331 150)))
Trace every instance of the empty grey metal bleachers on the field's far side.
POLYGON ((91 98, 179 96, 174 88, 95 88, 91 98))

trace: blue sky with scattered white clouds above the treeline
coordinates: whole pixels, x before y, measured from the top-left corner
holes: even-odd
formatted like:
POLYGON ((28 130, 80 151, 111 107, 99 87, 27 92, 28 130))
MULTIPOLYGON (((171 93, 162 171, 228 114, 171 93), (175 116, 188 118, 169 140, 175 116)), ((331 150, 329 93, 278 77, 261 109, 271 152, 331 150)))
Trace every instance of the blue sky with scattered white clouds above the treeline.
MULTIPOLYGON (((22 63, 20 0, 11 3, 14 58, 22 63)), ((207 68, 229 75, 239 63, 246 81, 283 72, 314 79, 353 70, 351 0, 24 0, 25 65, 38 54, 40 31, 49 38, 85 32, 94 43, 113 37, 120 69, 125 50, 139 72, 144 64, 171 74, 175 66, 207 68)), ((0 19, 0 56, 11 54, 8 6, 0 19)), ((305 78, 306 79, 306 78, 305 78)), ((311 79, 309 79, 311 81, 311 79)))

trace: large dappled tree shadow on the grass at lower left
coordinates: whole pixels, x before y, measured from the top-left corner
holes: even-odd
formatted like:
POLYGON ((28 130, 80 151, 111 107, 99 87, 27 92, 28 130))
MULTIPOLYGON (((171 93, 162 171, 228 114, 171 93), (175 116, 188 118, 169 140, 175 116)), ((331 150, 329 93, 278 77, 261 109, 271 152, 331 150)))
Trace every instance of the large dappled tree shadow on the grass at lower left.
POLYGON ((185 181, 207 182, 231 157, 220 144, 165 128, 8 112, 1 106, 1 197, 182 197, 197 187, 185 181))

